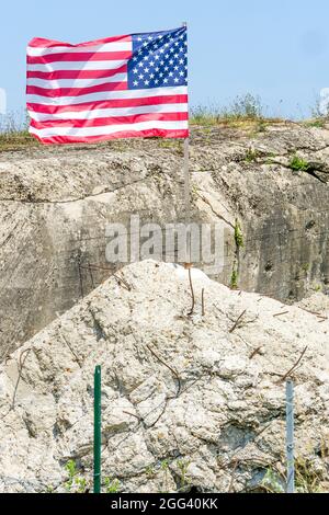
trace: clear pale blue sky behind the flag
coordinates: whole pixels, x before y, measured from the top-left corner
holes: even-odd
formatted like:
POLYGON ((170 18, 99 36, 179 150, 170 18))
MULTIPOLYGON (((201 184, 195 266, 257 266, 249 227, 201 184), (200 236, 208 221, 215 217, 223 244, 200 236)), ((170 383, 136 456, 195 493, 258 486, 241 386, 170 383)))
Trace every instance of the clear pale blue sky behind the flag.
POLYGON ((189 23, 191 104, 259 94, 270 115, 303 117, 329 87, 328 0, 10 0, 0 7, 0 88, 25 103, 25 46, 79 43, 189 23))

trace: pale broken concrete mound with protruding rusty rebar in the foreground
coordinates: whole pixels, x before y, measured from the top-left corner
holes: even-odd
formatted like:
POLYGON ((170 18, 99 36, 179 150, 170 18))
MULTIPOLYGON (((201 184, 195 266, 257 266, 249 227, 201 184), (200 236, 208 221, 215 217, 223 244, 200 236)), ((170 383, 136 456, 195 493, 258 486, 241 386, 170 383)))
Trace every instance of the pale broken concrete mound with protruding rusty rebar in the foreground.
POLYGON ((144 261, 118 272, 0 368, 0 490, 92 481, 92 385, 102 365, 102 472, 122 492, 249 492, 284 473, 285 374, 295 454, 329 490, 328 311, 230 290, 144 261), (201 291, 205 293, 202 313, 201 291), (14 399, 14 402, 13 402, 14 399), (303 461, 302 461, 303 462, 303 461))

